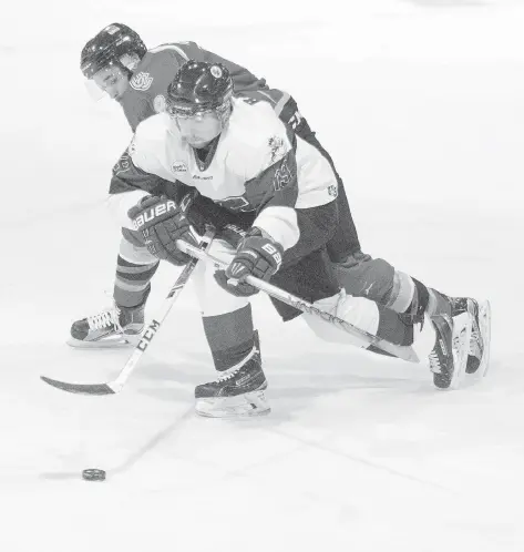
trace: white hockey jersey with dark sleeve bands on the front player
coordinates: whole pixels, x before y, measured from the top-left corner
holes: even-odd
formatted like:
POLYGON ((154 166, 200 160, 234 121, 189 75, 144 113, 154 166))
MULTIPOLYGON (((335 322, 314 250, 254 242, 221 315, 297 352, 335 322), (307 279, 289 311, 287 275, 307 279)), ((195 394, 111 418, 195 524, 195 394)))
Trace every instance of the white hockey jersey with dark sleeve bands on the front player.
POLYGON ((328 161, 295 136, 266 102, 234 99, 209 157, 203 163, 196 156, 166 113, 143 121, 113 168, 110 193, 121 224, 132 227, 127 211, 142 196, 168 195, 165 183, 182 182, 230 212, 255 212, 253 225, 287 249, 300 236, 295 209, 337 196, 328 161))

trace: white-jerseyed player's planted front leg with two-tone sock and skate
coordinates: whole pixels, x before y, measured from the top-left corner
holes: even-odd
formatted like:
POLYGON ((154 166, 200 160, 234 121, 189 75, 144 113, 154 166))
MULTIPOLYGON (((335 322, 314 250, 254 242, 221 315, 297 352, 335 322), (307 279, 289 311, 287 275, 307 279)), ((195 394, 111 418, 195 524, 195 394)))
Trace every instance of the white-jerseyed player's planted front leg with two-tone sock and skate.
MULTIPOLYGON (((210 253, 227 260, 233 258, 233 249, 219 239, 213 242, 210 253)), ((267 380, 251 306, 247 298, 235 297, 219 287, 213 274, 214 267, 201 263, 192 277, 218 372, 217 379, 195 388, 196 411, 214 418, 267 413, 267 380)))

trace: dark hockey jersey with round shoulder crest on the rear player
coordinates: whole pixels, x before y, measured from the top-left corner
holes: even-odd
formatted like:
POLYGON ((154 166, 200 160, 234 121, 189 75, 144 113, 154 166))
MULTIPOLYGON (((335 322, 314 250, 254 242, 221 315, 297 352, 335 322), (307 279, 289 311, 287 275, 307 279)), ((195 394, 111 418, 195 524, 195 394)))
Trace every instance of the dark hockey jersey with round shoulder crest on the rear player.
MULTIPOLYGON (((223 63, 229 70, 235 94, 268 102, 280 115, 289 100, 281 90, 269 89, 264 79, 258 79, 247 69, 237 65, 213 52, 202 49, 195 42, 174 42, 150 50, 141 60, 130 81, 130 86, 119 100, 133 132, 141 121, 162 113, 168 84, 178 69, 189 59, 223 63)), ((294 115, 286 115, 286 122, 294 115)))

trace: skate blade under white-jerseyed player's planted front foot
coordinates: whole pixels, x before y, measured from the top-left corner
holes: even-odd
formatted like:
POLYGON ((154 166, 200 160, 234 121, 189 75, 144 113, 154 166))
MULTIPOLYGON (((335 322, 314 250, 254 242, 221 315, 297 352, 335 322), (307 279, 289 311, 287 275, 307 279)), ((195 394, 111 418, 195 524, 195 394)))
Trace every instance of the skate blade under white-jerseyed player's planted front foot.
POLYGON ((271 411, 264 391, 254 391, 236 397, 197 399, 196 413, 205 418, 251 418, 271 411))

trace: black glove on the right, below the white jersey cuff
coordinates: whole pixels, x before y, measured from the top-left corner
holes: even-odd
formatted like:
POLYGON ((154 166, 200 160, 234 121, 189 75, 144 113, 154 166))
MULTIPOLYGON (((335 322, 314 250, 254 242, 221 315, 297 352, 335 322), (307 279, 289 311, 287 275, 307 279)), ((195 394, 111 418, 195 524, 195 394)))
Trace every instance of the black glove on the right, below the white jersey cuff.
POLYGON ((215 279, 226 292, 237 297, 249 297, 257 294, 258 289, 244 282, 246 276, 267 282, 280 268, 282 254, 280 244, 264 237, 258 228, 251 228, 240 241, 227 269, 217 270, 215 279))

